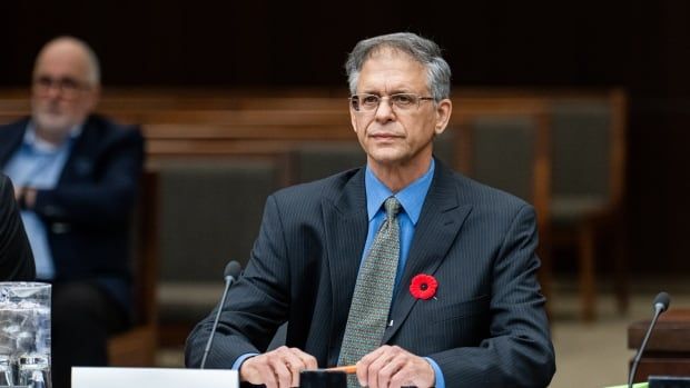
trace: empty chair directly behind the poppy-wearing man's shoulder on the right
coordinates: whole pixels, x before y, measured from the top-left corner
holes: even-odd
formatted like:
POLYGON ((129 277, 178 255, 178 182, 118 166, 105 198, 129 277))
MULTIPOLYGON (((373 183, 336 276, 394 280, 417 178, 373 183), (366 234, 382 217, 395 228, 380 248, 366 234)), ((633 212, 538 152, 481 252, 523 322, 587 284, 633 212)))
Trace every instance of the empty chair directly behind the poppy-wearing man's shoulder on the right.
MULTIPOLYGON (((462 106, 461 106, 462 108, 462 106)), ((490 107, 489 107, 490 108, 490 107)), ((460 170, 534 206, 540 235, 542 292, 551 296, 550 127, 543 105, 460 111, 460 170)))

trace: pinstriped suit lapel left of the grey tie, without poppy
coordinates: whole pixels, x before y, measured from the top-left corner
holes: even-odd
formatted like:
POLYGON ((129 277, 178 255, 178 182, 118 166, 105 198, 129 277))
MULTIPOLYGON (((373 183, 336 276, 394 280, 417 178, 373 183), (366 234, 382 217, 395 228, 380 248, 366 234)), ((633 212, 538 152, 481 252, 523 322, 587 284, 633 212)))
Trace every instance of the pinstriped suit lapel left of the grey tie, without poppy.
MULTIPOLYGON (((368 220, 364 169, 356 172, 345 185, 335 201, 323 200, 324 226, 328 249, 331 287, 333 289, 333 335, 345 327, 352 296, 357 281, 362 250, 366 240, 368 220)), ((332 338, 332 341, 337 338, 332 338)))

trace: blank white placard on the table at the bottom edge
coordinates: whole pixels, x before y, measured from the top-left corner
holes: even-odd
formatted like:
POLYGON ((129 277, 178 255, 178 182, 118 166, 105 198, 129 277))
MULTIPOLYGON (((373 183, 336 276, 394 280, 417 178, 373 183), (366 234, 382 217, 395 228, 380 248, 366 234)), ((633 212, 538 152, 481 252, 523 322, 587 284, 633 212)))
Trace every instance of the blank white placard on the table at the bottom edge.
POLYGON ((72 388, 238 388, 237 370, 73 367, 72 388))

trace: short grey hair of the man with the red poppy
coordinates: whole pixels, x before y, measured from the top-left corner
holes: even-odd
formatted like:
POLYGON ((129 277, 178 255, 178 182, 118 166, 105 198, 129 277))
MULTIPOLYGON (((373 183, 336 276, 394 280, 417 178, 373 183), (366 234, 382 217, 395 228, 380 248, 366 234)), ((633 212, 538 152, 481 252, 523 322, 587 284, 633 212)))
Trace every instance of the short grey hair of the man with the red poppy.
POLYGON ((451 67, 435 42, 412 32, 396 32, 361 40, 345 62, 349 92, 357 92, 362 67, 372 54, 390 48, 410 54, 426 68, 428 89, 436 102, 451 97, 451 67))

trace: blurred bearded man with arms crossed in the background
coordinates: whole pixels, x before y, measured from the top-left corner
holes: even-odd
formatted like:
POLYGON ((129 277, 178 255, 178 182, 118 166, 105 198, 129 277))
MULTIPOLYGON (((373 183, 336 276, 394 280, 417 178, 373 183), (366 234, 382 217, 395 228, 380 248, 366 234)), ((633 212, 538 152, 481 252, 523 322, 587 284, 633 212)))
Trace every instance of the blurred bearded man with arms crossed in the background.
POLYGON ((17 187, 37 265, 52 282, 52 377, 107 362, 107 338, 129 324, 129 225, 142 169, 136 128, 91 115, 96 54, 62 37, 40 51, 30 118, 0 128, 0 166, 17 187))

